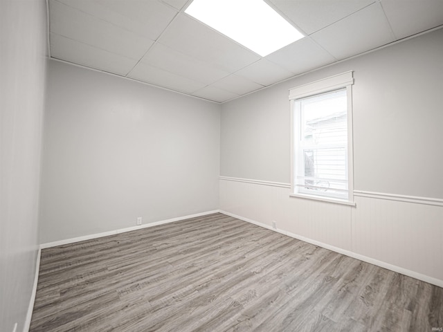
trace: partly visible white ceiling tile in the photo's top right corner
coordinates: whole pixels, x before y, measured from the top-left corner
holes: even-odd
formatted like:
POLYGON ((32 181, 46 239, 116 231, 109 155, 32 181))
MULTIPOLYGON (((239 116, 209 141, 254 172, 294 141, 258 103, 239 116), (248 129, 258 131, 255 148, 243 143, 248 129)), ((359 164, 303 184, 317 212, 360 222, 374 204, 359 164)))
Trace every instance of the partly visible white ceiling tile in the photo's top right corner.
POLYGON ((443 24, 442 0, 383 0, 381 6, 397 39, 443 24))

